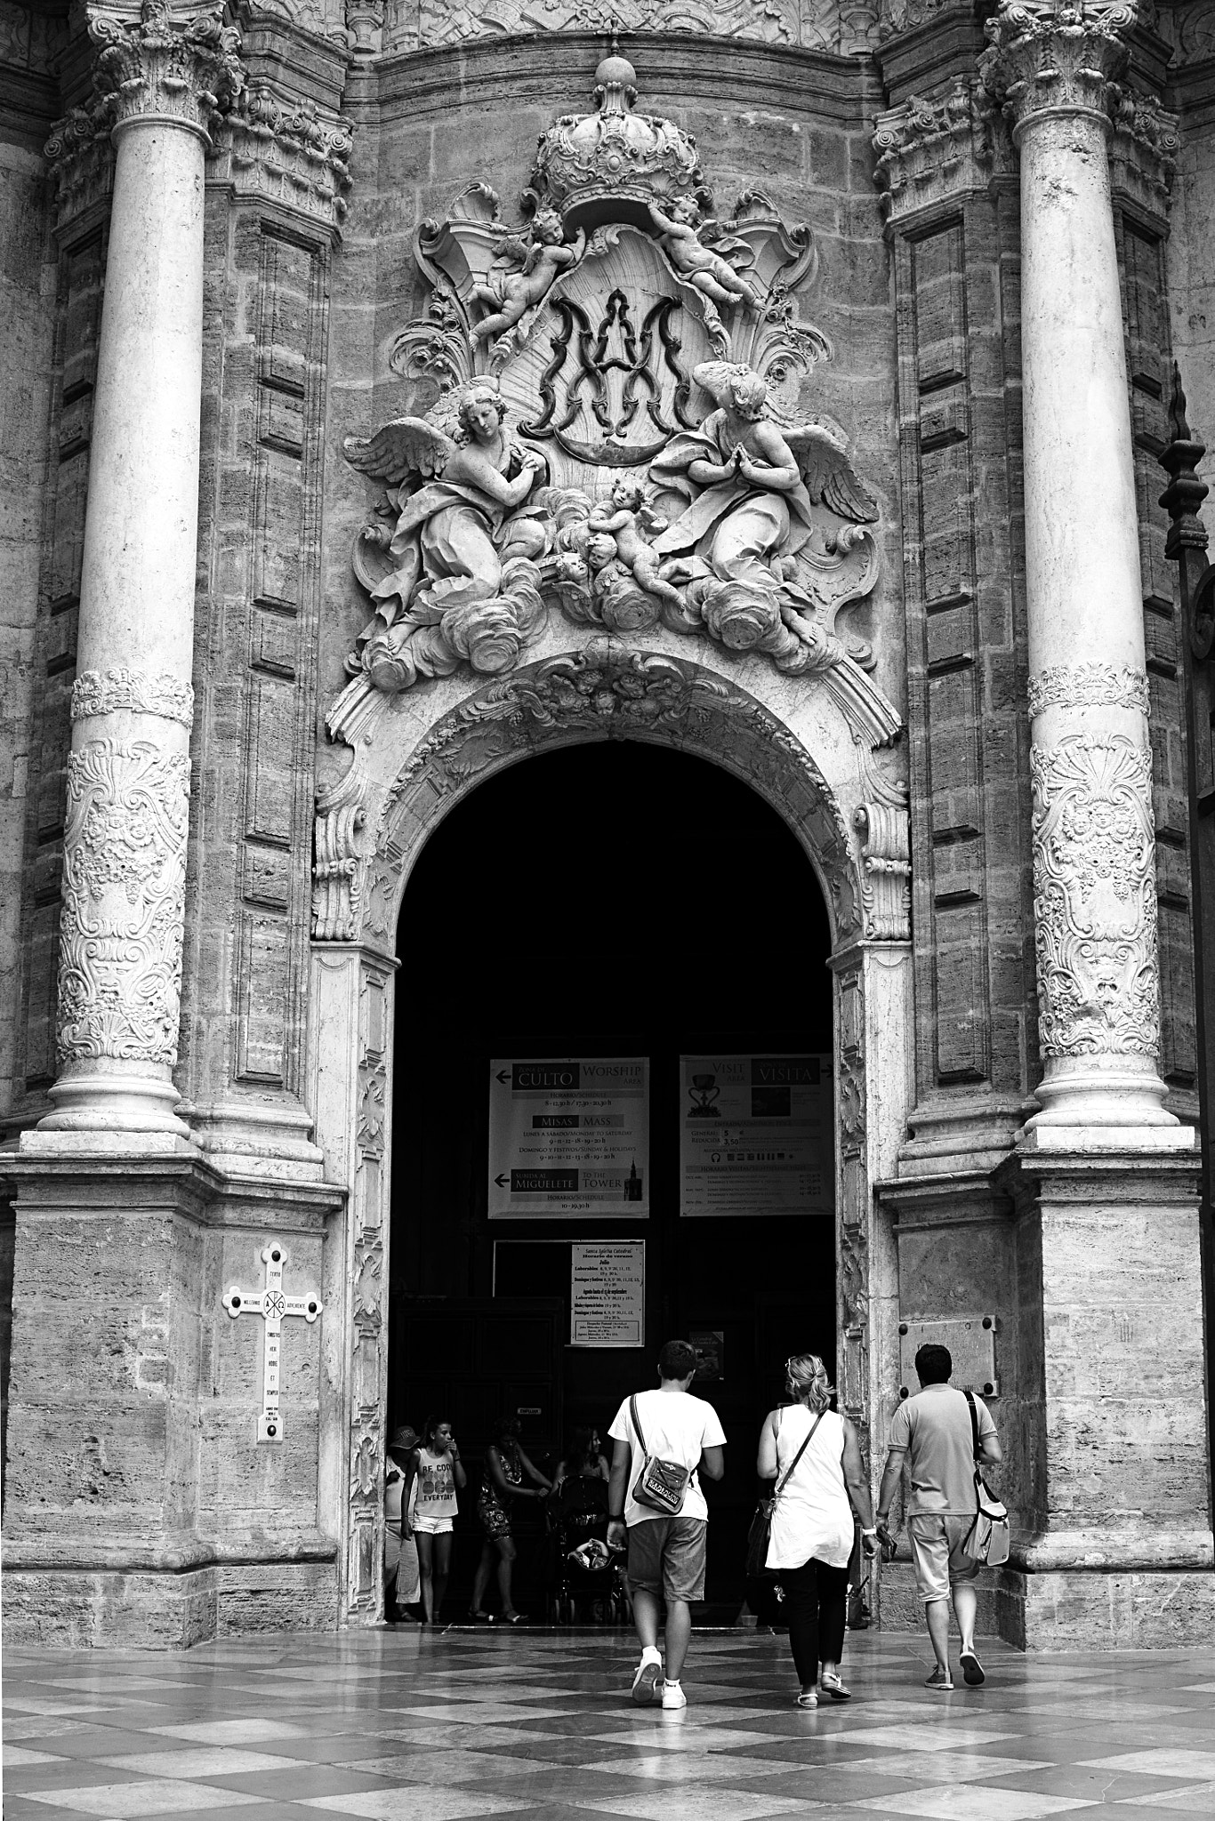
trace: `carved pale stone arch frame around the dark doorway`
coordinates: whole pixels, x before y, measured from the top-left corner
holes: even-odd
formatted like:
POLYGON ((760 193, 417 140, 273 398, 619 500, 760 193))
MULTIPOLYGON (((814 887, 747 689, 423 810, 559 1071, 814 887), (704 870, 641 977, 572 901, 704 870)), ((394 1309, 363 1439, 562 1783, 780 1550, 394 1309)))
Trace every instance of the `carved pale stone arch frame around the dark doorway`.
MULTIPOLYGON (((346 1297, 330 1333, 342 1386, 333 1450, 348 1464, 341 1606, 350 1623, 375 1623, 381 1608, 395 932, 410 872, 439 821, 481 781, 534 754, 630 739, 732 772, 789 825, 831 921, 838 1375, 867 1442, 873 1388, 893 1382, 896 1362, 891 1247, 873 1231, 871 1184, 902 1136, 911 1043, 905 814, 873 767, 865 783, 885 801, 862 801, 847 818, 801 739, 754 696, 696 663, 603 637, 479 688, 408 750, 393 743, 379 703, 372 712, 372 725, 342 728, 353 763, 319 798, 310 1014, 317 1140, 350 1195, 346 1297), (878 1029, 894 1062, 874 1094, 878 1029)), ((796 932, 781 965, 800 965, 796 932)))

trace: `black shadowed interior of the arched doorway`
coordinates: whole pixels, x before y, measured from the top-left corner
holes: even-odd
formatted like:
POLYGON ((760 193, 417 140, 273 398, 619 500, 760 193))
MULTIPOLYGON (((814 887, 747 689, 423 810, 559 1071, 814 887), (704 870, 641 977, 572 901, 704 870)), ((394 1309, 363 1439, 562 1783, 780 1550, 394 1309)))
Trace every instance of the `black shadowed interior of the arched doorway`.
MULTIPOLYGON (((721 1378, 696 1389, 729 1439, 709 1490, 707 1608, 732 1617, 783 1360, 834 1360, 834 1224, 679 1216, 679 1056, 831 1053, 829 925, 805 854, 714 765, 574 747, 499 774, 441 823, 404 894, 399 954, 388 1420, 441 1409, 470 1470, 446 1617, 468 1604, 492 1419, 526 1409, 523 1446, 552 1468, 574 1424, 607 1442, 661 1342, 690 1329, 725 1337, 721 1378), (494 1056, 650 1058, 650 1218, 488 1218, 494 1056), (647 1240, 641 1349, 565 1344, 576 1238, 647 1240)), ((516 1597, 541 1617, 541 1510, 526 1510, 537 1533, 521 1541, 516 1597)))

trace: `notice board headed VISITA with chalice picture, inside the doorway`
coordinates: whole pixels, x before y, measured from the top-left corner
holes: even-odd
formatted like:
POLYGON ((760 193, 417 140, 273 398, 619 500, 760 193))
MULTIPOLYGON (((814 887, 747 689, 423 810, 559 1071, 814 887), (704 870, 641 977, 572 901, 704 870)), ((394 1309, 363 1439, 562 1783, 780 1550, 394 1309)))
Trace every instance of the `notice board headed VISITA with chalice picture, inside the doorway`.
POLYGON ((681 1056, 679 1213, 834 1215, 831 1056, 681 1056))

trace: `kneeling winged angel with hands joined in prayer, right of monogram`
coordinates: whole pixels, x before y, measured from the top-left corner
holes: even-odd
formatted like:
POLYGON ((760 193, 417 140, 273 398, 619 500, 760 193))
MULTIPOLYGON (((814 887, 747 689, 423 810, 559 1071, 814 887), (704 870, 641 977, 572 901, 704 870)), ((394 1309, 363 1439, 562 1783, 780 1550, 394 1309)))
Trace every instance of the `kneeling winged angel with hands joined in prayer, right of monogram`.
POLYGON ((690 617, 736 650, 765 650, 785 670, 838 663, 843 646, 814 623, 796 557, 812 506, 873 524, 876 501, 831 430, 781 430, 765 415, 767 381, 749 366, 703 361, 692 379, 718 408, 650 464, 658 488, 689 499, 654 539, 663 579, 687 583, 690 617))

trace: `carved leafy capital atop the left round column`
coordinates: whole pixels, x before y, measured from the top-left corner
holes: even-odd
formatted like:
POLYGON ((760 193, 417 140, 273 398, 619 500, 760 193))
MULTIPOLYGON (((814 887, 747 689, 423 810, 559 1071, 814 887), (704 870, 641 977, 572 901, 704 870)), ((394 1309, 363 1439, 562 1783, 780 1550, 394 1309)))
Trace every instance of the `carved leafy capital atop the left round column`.
POLYGON ((95 86, 113 129, 153 118, 208 138, 244 86, 240 35, 222 24, 222 7, 209 5, 182 27, 168 0, 142 0, 138 22, 95 5, 87 16, 98 46, 95 86))

